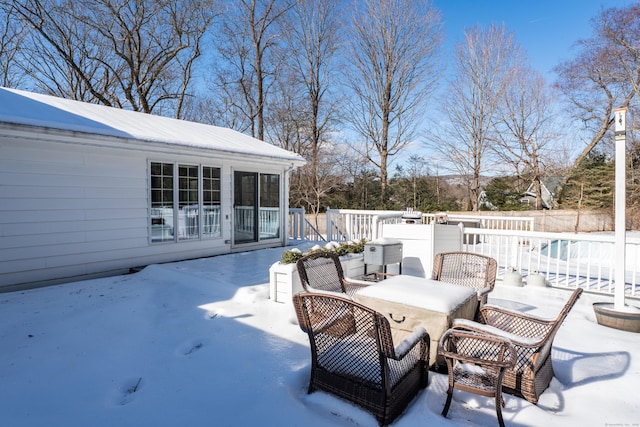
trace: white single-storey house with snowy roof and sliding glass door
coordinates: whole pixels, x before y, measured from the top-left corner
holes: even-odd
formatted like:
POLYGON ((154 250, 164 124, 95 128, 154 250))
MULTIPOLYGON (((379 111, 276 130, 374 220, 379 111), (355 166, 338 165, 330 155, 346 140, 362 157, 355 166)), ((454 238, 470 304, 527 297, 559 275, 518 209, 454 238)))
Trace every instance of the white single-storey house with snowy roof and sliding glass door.
POLYGON ((230 129, 0 88, 0 291, 283 246, 303 164, 230 129))

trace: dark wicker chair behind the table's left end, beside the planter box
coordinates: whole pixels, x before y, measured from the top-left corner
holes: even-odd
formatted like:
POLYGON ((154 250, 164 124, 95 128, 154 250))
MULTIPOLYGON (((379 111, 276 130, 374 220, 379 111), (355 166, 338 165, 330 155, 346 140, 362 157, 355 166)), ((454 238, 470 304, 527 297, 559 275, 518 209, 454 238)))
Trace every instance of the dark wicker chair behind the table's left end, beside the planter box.
POLYGON ((307 292, 338 292, 350 297, 365 283, 344 277, 338 255, 331 252, 312 252, 296 262, 302 287, 307 292))

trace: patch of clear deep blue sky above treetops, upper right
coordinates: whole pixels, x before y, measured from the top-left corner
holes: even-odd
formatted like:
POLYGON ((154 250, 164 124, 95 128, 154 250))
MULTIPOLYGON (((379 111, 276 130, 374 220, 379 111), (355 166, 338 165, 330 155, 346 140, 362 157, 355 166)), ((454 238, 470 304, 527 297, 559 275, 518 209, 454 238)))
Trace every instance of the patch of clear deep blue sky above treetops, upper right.
POLYGON ((504 24, 527 51, 531 64, 548 79, 553 68, 570 59, 575 42, 591 34, 591 19, 604 8, 637 0, 434 0, 443 17, 444 49, 453 51, 465 28, 504 24))

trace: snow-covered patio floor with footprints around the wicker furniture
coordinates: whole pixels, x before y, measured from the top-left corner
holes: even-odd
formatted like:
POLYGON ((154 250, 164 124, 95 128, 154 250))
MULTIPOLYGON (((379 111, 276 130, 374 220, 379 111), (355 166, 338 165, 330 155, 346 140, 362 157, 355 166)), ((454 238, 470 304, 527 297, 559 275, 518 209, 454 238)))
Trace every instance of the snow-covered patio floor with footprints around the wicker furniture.
MULTIPOLYGON (((0 294, 0 425, 376 426, 306 393, 307 336, 269 300, 283 249, 0 294)), ((490 302, 555 316, 568 296, 498 283, 490 302)), ((640 339, 595 322, 608 299, 582 295, 554 341, 556 378, 537 406, 505 395, 508 426, 640 425, 640 339)), ((491 398, 460 392, 443 418, 446 388, 431 372, 393 425, 497 425, 491 398)))

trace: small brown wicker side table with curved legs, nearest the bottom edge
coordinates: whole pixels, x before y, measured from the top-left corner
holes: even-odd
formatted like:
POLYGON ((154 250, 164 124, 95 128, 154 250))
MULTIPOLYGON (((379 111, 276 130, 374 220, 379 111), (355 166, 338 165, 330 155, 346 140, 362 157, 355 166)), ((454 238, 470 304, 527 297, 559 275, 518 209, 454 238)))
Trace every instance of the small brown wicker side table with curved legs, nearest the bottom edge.
POLYGON ((438 354, 447 362, 449 388, 442 415, 447 416, 453 390, 495 397, 496 414, 502 420, 502 379, 506 369, 516 364, 516 352, 511 343, 499 337, 459 329, 449 329, 440 339, 438 354))

